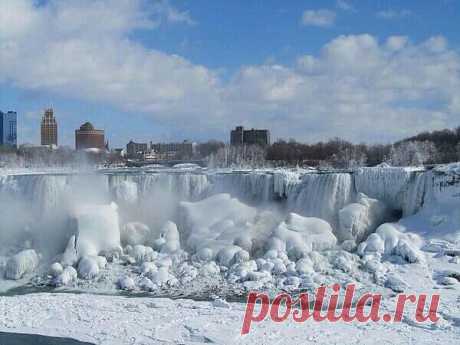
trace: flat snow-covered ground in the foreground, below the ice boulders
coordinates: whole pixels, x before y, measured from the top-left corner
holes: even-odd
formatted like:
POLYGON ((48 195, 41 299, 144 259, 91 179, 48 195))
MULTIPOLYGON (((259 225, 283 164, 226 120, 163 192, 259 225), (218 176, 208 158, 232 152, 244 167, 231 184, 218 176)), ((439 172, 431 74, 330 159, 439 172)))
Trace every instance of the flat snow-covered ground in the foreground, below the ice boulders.
MULTIPOLYGON (((458 298, 458 294, 457 294, 458 298)), ((455 298, 453 299, 455 302, 455 298)), ((458 307, 458 301, 455 302, 458 307)), ((443 308, 447 308, 444 305, 443 308)), ((0 298, 0 330, 95 344, 454 344, 458 325, 265 320, 240 335, 244 305, 165 298, 32 294, 0 298)), ((453 310, 452 312, 455 312, 453 310)))

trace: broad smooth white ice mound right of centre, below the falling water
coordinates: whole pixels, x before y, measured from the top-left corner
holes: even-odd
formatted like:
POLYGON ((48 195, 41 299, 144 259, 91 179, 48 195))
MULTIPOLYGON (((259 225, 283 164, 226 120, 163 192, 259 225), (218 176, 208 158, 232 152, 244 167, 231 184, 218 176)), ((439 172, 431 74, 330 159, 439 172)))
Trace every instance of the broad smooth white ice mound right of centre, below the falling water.
POLYGON ((288 253, 299 257, 302 253, 313 250, 331 249, 337 244, 337 239, 332 233, 328 222, 319 218, 302 217, 290 213, 273 232, 270 249, 280 250, 286 247, 288 253), (273 241, 279 239, 281 241, 273 241), (275 244, 277 243, 277 244, 275 244))

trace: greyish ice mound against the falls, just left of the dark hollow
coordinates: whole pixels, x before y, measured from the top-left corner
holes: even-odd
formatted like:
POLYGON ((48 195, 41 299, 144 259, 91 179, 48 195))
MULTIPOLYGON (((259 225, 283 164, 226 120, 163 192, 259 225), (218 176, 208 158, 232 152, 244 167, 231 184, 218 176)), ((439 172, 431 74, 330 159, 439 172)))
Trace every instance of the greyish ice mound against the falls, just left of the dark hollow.
POLYGON ((340 241, 353 240, 360 243, 389 218, 390 212, 385 203, 359 193, 355 203, 339 211, 336 235, 340 241))

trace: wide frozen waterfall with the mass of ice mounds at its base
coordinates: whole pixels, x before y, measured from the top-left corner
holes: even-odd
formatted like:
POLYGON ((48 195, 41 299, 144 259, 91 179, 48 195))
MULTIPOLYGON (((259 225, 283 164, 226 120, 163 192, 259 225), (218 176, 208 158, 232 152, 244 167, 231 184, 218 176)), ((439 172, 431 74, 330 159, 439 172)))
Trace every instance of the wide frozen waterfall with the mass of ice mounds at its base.
POLYGON ((0 266, 10 279, 38 272, 39 256, 22 251, 34 248, 47 254, 40 262, 55 286, 290 290, 368 274, 399 291, 392 263, 423 263, 426 252, 458 261, 459 180, 455 165, 3 176, 0 198, 31 216, 11 224, 8 235, 21 236, 1 248, 0 266))

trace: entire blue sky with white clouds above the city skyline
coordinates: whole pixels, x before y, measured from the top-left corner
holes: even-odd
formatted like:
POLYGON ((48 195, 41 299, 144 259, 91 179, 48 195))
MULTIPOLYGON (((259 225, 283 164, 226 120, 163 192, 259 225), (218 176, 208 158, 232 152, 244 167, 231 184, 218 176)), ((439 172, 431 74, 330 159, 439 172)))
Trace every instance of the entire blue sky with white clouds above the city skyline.
POLYGON ((39 142, 388 142, 460 125, 460 1, 3 0, 0 109, 39 142))

